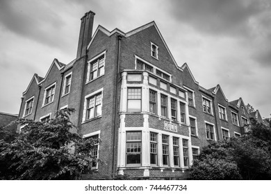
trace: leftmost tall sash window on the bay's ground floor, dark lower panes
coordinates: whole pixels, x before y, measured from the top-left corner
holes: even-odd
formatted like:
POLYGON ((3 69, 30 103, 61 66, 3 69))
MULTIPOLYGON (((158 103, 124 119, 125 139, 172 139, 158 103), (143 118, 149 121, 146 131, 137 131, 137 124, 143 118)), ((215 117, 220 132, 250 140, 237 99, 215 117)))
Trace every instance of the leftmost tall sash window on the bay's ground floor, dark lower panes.
POLYGON ((141 164, 141 132, 126 132, 126 164, 141 164))

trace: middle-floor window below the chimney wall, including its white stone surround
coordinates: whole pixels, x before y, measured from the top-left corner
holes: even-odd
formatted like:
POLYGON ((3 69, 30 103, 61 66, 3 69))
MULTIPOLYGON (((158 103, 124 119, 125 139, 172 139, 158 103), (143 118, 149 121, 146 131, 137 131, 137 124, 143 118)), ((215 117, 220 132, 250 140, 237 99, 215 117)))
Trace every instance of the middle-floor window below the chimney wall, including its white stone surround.
POLYGON ((101 88, 85 96, 83 122, 101 116, 103 89, 104 88, 101 88))

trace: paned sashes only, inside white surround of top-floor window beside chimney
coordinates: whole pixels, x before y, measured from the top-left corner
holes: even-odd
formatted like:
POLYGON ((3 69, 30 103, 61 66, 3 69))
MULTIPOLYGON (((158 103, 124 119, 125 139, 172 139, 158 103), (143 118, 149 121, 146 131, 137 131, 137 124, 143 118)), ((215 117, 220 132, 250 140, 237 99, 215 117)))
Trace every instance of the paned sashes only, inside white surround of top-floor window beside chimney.
POLYGON ((104 55, 102 55, 97 60, 90 62, 89 80, 94 80, 95 78, 104 75, 104 64, 104 55))

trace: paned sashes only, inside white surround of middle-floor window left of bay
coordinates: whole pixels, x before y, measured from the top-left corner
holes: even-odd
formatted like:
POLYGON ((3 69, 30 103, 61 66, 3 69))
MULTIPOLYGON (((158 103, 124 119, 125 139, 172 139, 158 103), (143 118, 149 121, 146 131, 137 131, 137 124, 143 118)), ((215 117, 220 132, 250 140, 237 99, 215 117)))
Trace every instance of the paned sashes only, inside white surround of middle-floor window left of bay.
POLYGON ((101 93, 87 98, 86 120, 101 115, 101 93))

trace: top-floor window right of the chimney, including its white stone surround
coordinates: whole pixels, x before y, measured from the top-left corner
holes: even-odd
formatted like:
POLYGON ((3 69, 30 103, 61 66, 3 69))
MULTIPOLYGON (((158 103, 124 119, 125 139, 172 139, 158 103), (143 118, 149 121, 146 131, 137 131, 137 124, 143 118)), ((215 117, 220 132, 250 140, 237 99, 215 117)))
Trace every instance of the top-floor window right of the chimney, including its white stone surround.
POLYGON ((106 61, 106 51, 92 58, 88 62, 87 83, 104 75, 104 67, 106 61))

